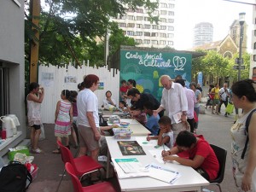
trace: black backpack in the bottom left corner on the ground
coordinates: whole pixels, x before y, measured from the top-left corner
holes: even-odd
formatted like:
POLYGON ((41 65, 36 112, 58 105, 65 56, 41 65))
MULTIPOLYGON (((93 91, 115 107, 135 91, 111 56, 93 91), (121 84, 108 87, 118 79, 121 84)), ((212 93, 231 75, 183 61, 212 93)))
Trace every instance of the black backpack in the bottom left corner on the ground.
POLYGON ((32 183, 32 175, 19 161, 10 161, 0 172, 0 192, 24 192, 32 183))

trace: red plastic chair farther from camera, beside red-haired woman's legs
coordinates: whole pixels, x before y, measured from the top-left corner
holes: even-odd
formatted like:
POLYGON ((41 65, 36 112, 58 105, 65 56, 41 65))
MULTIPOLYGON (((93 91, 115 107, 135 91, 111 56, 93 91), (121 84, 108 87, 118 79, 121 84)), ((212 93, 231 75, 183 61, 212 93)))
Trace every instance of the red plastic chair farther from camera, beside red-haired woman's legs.
POLYGON ((101 176, 100 169, 103 168, 103 166, 98 163, 96 160, 93 160, 90 156, 81 156, 77 158, 73 158, 73 154, 71 154, 71 151, 65 147, 60 141, 57 141, 59 147, 61 148, 61 158, 66 164, 67 162, 71 163, 75 172, 75 175, 82 179, 84 175, 89 174, 91 172, 98 171, 101 176))

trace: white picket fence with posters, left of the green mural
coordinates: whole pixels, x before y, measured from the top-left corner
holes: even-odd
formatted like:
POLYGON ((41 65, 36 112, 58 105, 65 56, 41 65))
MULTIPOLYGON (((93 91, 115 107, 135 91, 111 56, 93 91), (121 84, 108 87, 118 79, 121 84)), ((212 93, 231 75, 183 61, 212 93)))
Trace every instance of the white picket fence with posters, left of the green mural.
POLYGON ((61 100, 61 90, 78 90, 78 84, 87 74, 96 74, 102 83, 102 90, 95 91, 99 108, 107 90, 111 90, 113 99, 119 102, 119 70, 117 69, 108 70, 108 66, 89 67, 88 65, 75 68, 71 64, 65 67, 40 65, 38 82, 44 86, 45 91, 41 105, 43 123, 54 123, 56 103, 61 100))

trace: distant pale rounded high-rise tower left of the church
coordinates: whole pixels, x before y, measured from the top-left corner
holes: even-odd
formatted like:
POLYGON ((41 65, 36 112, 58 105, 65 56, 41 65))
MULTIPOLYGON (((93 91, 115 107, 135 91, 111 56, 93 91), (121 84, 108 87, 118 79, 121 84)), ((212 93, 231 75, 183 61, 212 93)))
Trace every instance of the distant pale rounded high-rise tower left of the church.
POLYGON ((213 26, 212 23, 201 22, 194 27, 193 47, 202 44, 212 43, 213 26))

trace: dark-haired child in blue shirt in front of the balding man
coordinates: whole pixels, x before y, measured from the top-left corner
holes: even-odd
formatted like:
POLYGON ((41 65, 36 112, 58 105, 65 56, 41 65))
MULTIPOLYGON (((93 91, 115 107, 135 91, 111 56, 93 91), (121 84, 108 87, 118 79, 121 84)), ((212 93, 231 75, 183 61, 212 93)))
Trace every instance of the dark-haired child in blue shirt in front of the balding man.
POLYGON ((143 104, 144 112, 147 114, 148 119, 146 123, 146 128, 148 131, 151 132, 153 136, 157 136, 160 131, 160 127, 158 124, 158 121, 160 119, 159 114, 157 116, 153 115, 153 110, 154 110, 154 103, 153 102, 145 102, 143 104))

